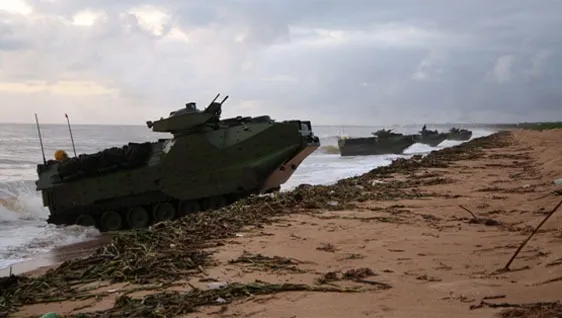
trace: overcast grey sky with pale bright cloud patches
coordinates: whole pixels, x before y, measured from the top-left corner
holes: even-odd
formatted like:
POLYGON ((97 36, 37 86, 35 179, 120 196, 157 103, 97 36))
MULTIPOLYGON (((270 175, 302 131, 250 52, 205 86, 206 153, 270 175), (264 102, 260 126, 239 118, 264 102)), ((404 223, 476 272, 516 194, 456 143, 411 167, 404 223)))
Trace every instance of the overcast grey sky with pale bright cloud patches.
POLYGON ((0 0, 0 122, 562 120, 562 1, 0 0), (153 5, 148 5, 152 3, 153 5))

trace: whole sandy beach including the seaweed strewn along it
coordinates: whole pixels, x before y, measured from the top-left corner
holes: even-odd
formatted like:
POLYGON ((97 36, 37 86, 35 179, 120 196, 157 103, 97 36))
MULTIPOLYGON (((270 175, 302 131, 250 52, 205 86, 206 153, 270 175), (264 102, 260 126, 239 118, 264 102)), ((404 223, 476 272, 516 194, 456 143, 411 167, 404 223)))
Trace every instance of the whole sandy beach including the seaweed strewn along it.
POLYGON ((0 317, 560 317, 562 208, 505 269, 562 200, 560 140, 501 132, 68 247, 0 278, 0 317))

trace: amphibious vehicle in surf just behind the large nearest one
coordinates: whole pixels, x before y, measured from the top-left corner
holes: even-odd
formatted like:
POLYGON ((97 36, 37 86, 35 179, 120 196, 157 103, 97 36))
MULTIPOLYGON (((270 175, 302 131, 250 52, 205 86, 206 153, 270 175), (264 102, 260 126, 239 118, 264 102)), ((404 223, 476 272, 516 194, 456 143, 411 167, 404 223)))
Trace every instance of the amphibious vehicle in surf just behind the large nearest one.
POLYGON ((402 154, 415 143, 412 136, 392 132, 392 129, 381 129, 372 134, 372 137, 339 138, 341 156, 402 154))

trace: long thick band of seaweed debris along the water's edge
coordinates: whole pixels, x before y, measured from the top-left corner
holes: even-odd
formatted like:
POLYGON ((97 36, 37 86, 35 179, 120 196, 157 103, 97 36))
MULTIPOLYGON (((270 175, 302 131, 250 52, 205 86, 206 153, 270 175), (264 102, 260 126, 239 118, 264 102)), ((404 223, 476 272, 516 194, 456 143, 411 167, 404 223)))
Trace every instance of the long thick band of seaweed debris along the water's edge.
POLYGON ((342 210, 357 201, 417 198, 424 194, 407 181, 376 183, 392 173, 411 174, 421 168, 443 167, 456 160, 483 156, 482 149, 508 145, 509 132, 475 138, 426 156, 397 159, 366 174, 334 185, 300 185, 274 196, 252 196, 220 210, 187 215, 148 229, 115 234, 110 243, 84 259, 75 259, 37 278, 0 278, 0 316, 17 307, 47 301, 93 297, 77 286, 92 281, 147 284, 189 278, 212 265, 208 247, 234 237, 249 226, 311 209, 342 210))

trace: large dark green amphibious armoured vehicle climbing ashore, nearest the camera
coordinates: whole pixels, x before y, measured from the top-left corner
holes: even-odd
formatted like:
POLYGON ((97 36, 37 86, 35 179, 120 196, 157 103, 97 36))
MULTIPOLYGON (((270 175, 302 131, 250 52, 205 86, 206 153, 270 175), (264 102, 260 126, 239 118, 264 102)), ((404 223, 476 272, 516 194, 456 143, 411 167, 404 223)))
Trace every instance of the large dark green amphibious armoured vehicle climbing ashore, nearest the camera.
MULTIPOLYGON (((219 95, 204 110, 190 102, 167 118, 146 122, 170 138, 74 152, 72 158, 58 151, 49 161, 43 152, 36 184, 50 211, 48 222, 106 232, 217 209, 278 191, 320 146, 310 121, 276 122, 268 115, 220 119, 228 96, 217 102, 219 95)), ((68 127, 72 138, 70 122, 68 127)), ((37 129, 43 149, 38 120, 37 129)))

